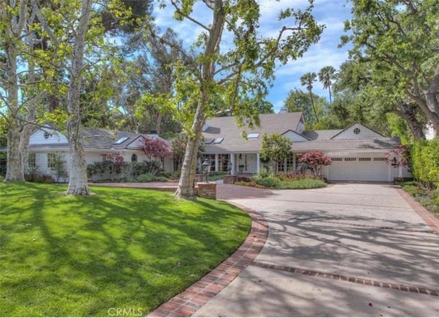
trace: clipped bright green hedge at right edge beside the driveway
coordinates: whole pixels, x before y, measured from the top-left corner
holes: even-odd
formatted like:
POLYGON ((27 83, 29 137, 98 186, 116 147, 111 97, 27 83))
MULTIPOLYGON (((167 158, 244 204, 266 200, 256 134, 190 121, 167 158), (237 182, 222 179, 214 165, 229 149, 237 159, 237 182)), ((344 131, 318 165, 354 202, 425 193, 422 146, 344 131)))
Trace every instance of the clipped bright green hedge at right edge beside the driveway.
POLYGON ((439 188, 439 137, 433 140, 416 140, 410 151, 414 178, 425 185, 439 188))

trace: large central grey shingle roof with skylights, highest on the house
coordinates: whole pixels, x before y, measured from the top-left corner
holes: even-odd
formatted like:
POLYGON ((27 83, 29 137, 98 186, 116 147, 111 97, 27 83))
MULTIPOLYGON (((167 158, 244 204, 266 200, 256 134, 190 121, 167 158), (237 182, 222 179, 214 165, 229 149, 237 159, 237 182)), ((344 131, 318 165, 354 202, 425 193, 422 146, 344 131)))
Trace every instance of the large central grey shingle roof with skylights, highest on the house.
POLYGON ((289 112, 286 114, 261 114, 259 115, 260 126, 250 129, 248 125, 238 127, 235 123, 236 117, 214 117, 206 123, 204 130, 205 152, 207 153, 227 153, 236 151, 259 151, 262 145, 263 134, 283 134, 288 130, 297 131, 301 112, 289 112), (257 138, 241 136, 242 132, 259 133, 257 138), (224 138, 220 140, 220 138, 224 138), (215 140, 217 143, 215 143, 215 140), (219 142, 219 143, 218 143, 219 142))

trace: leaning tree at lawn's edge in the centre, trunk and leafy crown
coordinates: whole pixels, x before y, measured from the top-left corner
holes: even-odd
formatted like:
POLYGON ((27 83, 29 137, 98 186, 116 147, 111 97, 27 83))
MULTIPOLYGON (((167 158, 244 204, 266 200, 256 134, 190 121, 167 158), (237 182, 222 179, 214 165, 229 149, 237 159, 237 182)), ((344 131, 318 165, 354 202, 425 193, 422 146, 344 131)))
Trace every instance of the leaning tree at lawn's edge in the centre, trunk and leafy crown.
MULTIPOLYGON (((161 5, 167 5, 162 1, 161 5)), ((267 94, 278 63, 296 59, 318 40, 322 26, 311 16, 312 2, 306 10, 285 8, 278 18, 288 21, 272 38, 259 32, 260 8, 257 1, 202 1, 202 20, 193 14, 194 1, 170 1, 177 20, 189 21, 201 29, 185 57, 176 64, 176 105, 180 107, 187 147, 176 196, 194 197, 193 185, 198 143, 207 118, 222 106, 243 123, 258 123, 257 105, 267 94), (208 20, 209 21, 206 21, 208 20), (223 42, 227 34, 227 42, 223 42), (215 103, 215 98, 223 103, 215 103)))

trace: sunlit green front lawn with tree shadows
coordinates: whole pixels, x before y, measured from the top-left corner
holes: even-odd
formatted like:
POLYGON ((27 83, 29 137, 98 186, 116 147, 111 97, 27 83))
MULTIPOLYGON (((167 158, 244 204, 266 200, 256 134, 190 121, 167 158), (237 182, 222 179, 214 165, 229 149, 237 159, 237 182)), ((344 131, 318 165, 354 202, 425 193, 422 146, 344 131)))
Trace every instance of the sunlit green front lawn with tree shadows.
POLYGON ((250 230, 245 212, 218 201, 65 190, 0 184, 0 316, 145 315, 215 268, 250 230))

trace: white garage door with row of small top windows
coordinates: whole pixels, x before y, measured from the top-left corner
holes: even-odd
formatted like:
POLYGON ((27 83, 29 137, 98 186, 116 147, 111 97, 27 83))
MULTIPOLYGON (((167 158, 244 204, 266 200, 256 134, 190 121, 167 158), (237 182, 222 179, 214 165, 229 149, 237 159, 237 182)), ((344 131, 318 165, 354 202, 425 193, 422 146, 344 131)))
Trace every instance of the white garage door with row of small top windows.
POLYGON ((329 180, 390 181, 389 164, 384 157, 332 158, 329 180))

